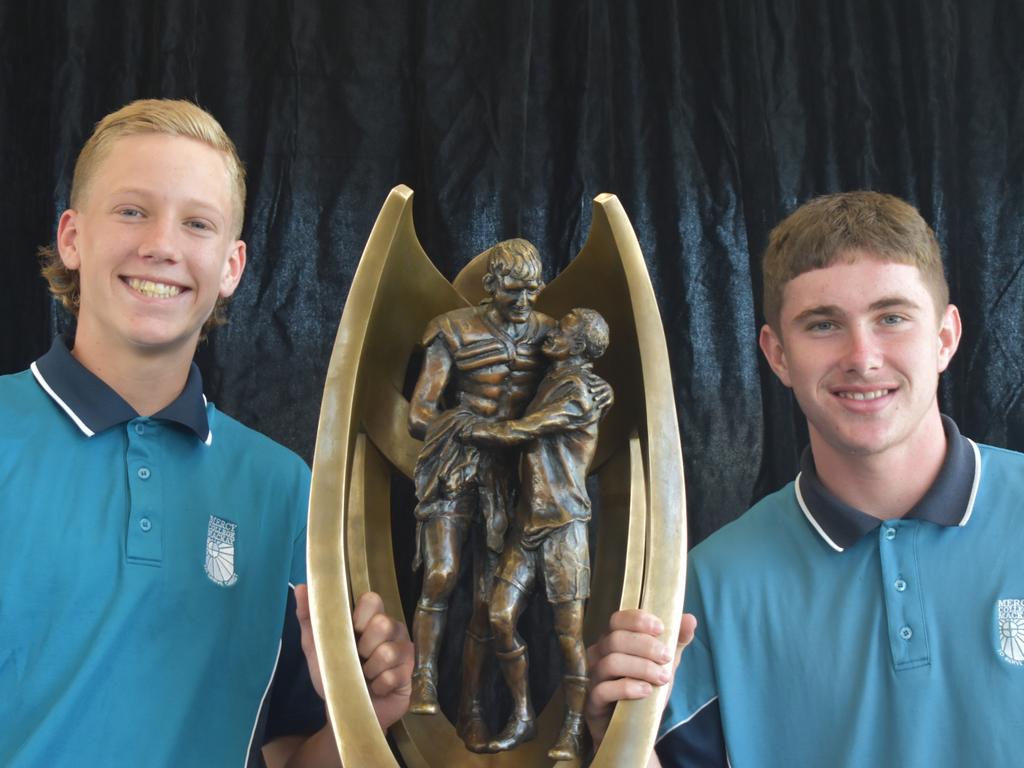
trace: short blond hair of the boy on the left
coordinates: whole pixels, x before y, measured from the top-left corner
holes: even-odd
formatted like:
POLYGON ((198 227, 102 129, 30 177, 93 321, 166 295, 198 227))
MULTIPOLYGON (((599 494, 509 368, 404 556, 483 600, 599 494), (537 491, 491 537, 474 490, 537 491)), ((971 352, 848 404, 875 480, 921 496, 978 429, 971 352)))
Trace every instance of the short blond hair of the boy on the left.
MULTIPOLYGON (((98 123, 75 162, 71 186, 71 207, 79 208, 89 193, 89 184, 100 163, 111 154, 118 139, 126 136, 163 134, 201 141, 217 150, 224 158, 231 189, 231 224, 234 238, 242 233, 246 208, 246 172, 234 142, 210 113, 191 101, 143 98, 113 112, 98 123)), ((76 317, 81 301, 79 275, 60 260, 56 246, 39 249, 42 273, 50 293, 76 317)), ((204 334, 224 323, 225 299, 217 299, 213 313, 204 326, 204 334)))

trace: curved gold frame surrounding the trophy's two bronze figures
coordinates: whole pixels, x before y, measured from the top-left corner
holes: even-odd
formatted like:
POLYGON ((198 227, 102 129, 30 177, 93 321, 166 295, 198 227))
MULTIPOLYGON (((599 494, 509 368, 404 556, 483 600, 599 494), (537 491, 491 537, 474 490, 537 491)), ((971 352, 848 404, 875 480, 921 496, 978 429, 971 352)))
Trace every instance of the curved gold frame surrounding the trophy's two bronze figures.
MULTIPOLYGON (((483 271, 481 254, 454 285, 437 272, 416 238, 412 197, 408 187, 391 191, 364 251, 328 371, 313 460, 308 545, 313 631, 331 721, 342 759, 353 766, 397 765, 376 725, 350 610, 354 595, 373 589, 389 613, 403 614, 391 546, 389 477, 395 471, 412 477, 420 451, 404 431, 406 371, 428 321, 478 301, 480 289, 471 287, 480 285, 483 271)), ((592 466, 600 480, 602 517, 595 531, 585 637, 593 640, 613 608, 640 605, 662 617, 663 640, 671 642, 685 574, 682 456, 653 291, 636 236, 610 195, 596 199, 587 244, 537 302, 554 316, 577 305, 597 309, 611 327, 611 345, 596 371, 616 399, 602 423, 592 466)), ((620 705, 594 765, 642 765, 663 703, 651 696, 620 705)), ((442 715, 408 716, 392 733, 411 768, 550 766, 546 751, 562 711, 559 692, 538 718, 537 738, 497 755, 467 752, 442 715)))

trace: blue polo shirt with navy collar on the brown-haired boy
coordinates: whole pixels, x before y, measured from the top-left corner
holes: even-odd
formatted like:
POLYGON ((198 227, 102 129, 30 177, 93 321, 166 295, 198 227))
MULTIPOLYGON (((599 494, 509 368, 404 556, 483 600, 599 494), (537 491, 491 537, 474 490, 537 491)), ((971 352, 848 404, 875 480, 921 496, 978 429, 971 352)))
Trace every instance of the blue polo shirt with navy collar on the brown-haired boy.
POLYGON ((948 450, 880 521, 805 454, 795 482, 690 553, 666 766, 1024 764, 1024 456, 948 450))

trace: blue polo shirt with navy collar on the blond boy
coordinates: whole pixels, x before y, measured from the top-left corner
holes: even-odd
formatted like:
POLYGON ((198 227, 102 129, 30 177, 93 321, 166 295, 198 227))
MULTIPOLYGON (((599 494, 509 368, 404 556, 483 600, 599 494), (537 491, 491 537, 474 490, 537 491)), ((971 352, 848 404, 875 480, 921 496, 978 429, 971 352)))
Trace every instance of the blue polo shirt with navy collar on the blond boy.
POLYGON ((0 765, 245 765, 308 490, 195 366, 152 417, 60 339, 0 377, 0 765))

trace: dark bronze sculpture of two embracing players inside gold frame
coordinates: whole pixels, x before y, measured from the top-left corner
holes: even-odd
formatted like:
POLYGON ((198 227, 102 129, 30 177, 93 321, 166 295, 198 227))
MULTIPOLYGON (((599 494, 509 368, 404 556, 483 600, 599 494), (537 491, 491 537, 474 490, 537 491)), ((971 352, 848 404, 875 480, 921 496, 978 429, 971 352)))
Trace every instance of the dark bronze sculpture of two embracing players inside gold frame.
POLYGON ((499 243, 487 254, 483 276, 489 300, 433 318, 424 334, 426 354, 409 412, 410 431, 424 440, 415 474, 414 566, 422 562, 424 575, 413 623, 412 712, 438 712, 437 653, 447 601, 461 560, 469 557, 474 594, 463 645, 459 734, 478 753, 511 750, 536 735, 526 645, 516 625, 541 575, 563 656, 566 708, 548 756, 573 760, 587 688, 586 477, 597 424, 611 402, 610 387, 593 364, 608 345, 608 326, 592 309, 573 309, 557 324, 535 311, 543 285, 530 243, 499 243), (441 410, 450 385, 455 401, 441 410), (492 649, 513 701, 507 725, 494 738, 481 691, 492 649))

